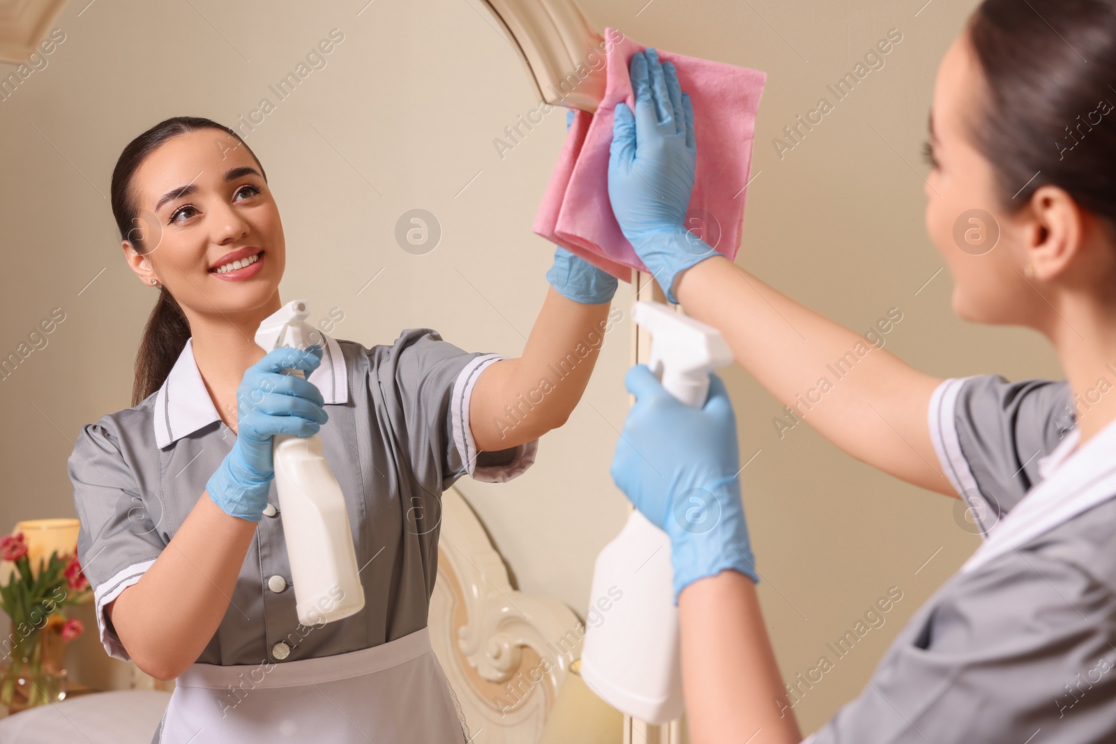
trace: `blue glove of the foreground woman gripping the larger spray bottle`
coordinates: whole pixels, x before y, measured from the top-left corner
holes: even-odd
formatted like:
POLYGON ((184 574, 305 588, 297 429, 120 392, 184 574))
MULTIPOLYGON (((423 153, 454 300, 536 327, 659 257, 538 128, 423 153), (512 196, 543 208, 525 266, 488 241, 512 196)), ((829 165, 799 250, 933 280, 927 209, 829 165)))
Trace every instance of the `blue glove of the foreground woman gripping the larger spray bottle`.
POLYGON ((689 583, 725 569, 759 583, 740 501, 737 419, 721 378, 710 375, 703 408, 663 389, 646 365, 624 384, 636 402, 616 443, 613 480, 671 538, 674 603, 689 583))

